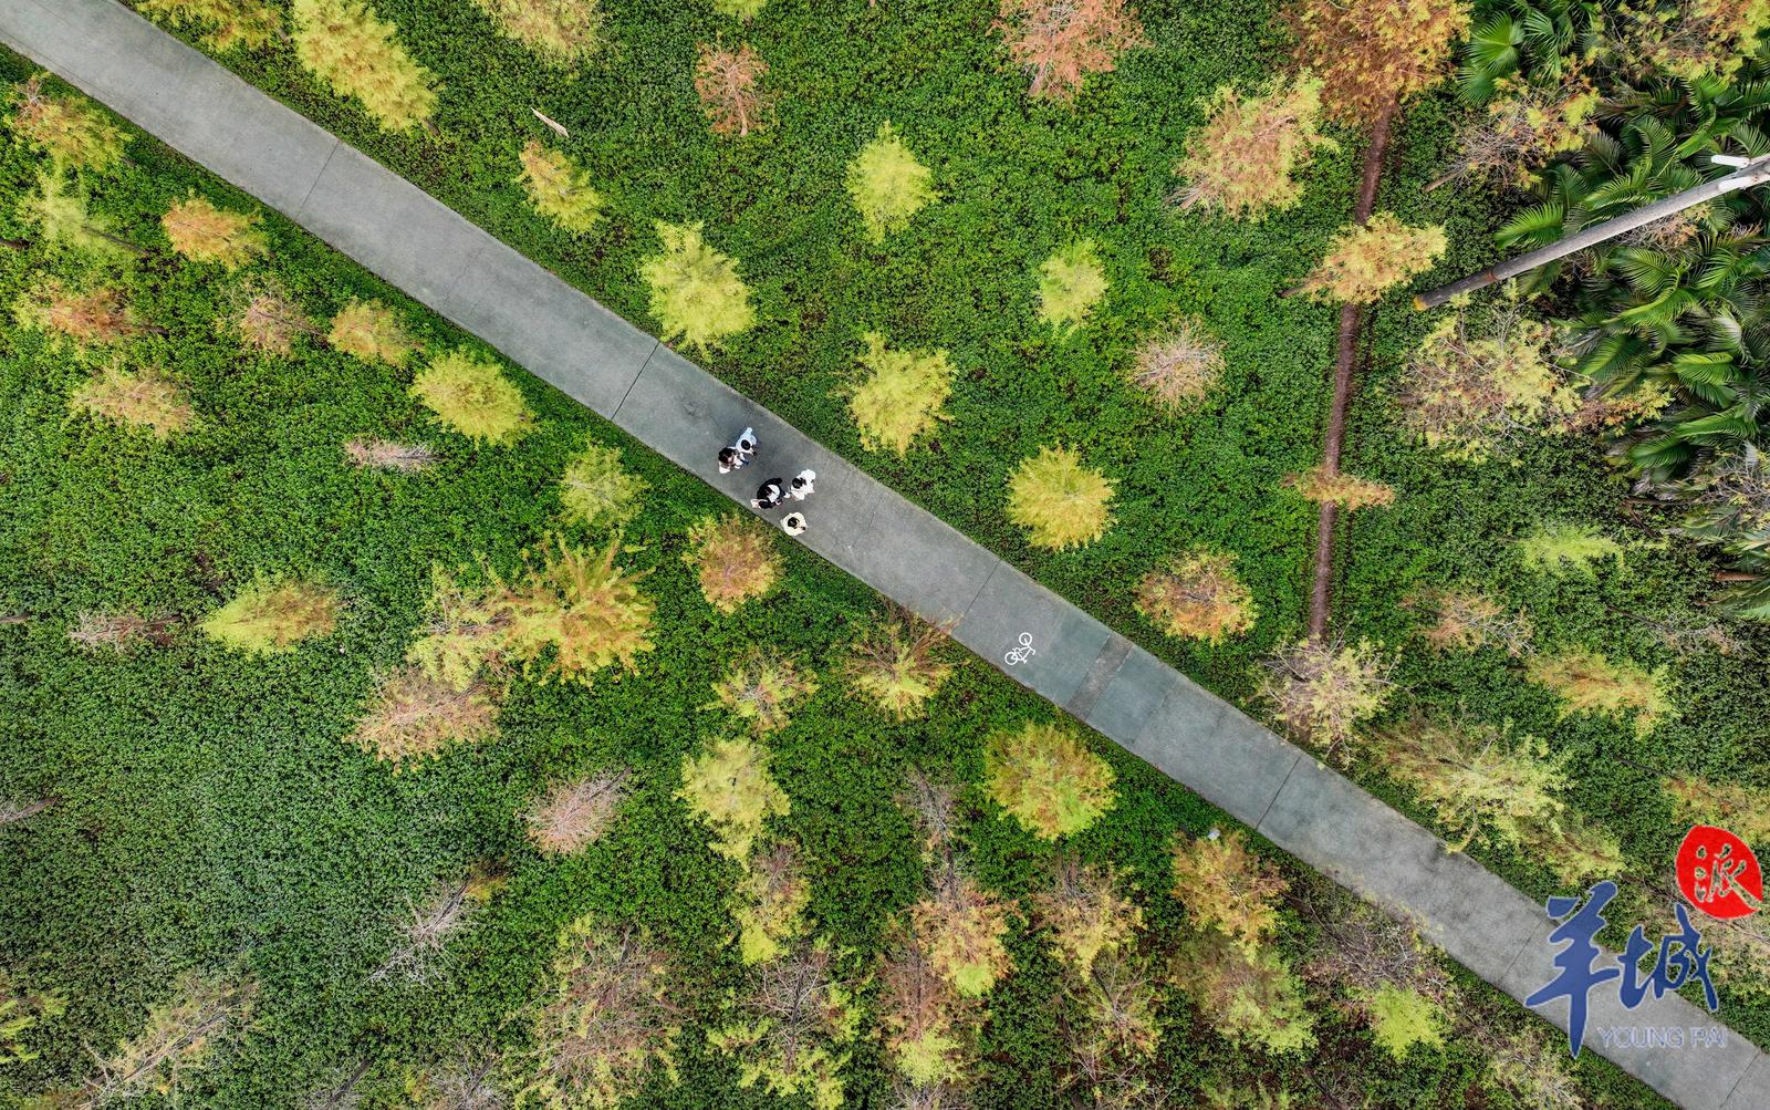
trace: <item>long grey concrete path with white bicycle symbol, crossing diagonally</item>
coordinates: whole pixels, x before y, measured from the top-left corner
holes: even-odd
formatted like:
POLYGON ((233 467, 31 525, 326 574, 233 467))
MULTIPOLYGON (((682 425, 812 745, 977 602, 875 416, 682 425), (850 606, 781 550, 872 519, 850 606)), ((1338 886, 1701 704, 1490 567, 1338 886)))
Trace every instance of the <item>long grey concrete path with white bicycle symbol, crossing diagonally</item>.
MULTIPOLYGON (((811 549, 922 616, 956 621, 956 637, 1009 676, 1411 915, 1512 997, 1554 975, 1543 908, 1506 882, 219 64, 113 0, 0 0, 0 41, 740 505, 761 469, 812 466, 811 549), (713 455, 745 425, 773 462, 720 478, 713 455)), ((1566 1004, 1543 1018, 1565 1029, 1566 1004)), ((1623 1011, 1600 990, 1586 1050, 1605 1052, 1600 1027, 1713 1023, 1676 997, 1623 1011)), ((1607 1055, 1690 1110, 1770 1110, 1770 1059, 1736 1034, 1713 1048, 1607 1055)))

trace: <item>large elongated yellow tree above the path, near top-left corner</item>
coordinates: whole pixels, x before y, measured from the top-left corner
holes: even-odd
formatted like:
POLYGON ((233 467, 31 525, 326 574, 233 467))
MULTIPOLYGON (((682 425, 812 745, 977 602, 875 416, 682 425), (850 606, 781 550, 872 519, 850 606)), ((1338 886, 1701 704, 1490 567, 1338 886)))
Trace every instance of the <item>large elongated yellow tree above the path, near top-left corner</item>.
POLYGON ((407 131, 435 112, 430 71, 361 0, 294 0, 290 16, 296 58, 335 94, 361 101, 382 129, 407 131))

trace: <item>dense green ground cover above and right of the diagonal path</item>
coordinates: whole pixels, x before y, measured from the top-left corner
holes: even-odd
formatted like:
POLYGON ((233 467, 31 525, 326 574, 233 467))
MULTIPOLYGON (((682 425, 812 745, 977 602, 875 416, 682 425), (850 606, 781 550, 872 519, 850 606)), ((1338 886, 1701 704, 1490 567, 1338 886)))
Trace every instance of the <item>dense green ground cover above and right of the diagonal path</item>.
MULTIPOLYGON (((1319 459, 1335 320, 1331 306, 1276 294, 1349 220, 1359 138, 1335 131, 1340 149, 1303 175, 1303 202, 1262 223, 1179 212, 1166 197, 1204 97, 1221 83, 1258 87, 1285 57, 1274 5, 1143 4, 1149 42, 1117 73, 1090 78, 1073 104, 1027 97, 1027 78, 991 30, 989 0, 834 9, 777 0, 752 21, 703 4, 604 9, 602 53, 561 71, 535 66, 474 5, 379 4, 441 85, 434 129, 405 135, 382 133, 319 87, 287 48, 225 60, 646 326, 658 322, 637 273, 657 250, 653 221, 704 221, 758 306, 754 328, 703 359, 712 370, 1248 703, 1255 662, 1304 625, 1315 510, 1281 480, 1319 459), (720 136, 696 99, 696 50, 740 41, 766 60, 773 104, 758 133, 720 136), (531 110, 563 122, 570 138, 552 136, 531 110), (874 244, 843 173, 883 120, 933 170, 938 202, 874 244), (609 198, 589 234, 558 232, 526 204, 517 152, 536 138, 570 154, 609 198), (1110 292, 1085 328, 1057 338, 1035 312, 1035 271, 1083 237, 1099 248, 1110 292), (1184 416, 1158 412, 1124 382, 1135 343, 1177 313, 1202 317, 1227 342, 1223 384, 1184 416), (959 368, 950 421, 903 460, 860 448, 841 397, 869 329, 894 345, 945 349, 959 368), (1078 448, 1117 483, 1113 526, 1080 551, 1034 549, 1004 513, 1012 467, 1048 444, 1078 448), (1135 582, 1191 543, 1237 556, 1260 611, 1250 634, 1214 648, 1177 644, 1135 613, 1135 582)), ((1467 184, 1423 191, 1448 161, 1458 119, 1448 87, 1411 103, 1377 205, 1448 228, 1435 276, 1490 257, 1490 232, 1513 204, 1467 184)), ((1678 825, 1660 775, 1770 781, 1758 744, 1765 636, 1733 628, 1729 653, 1666 646, 1648 620, 1706 625, 1713 565, 1683 543, 1655 545, 1662 520, 1625 505, 1627 480, 1593 441, 1533 441, 1515 460, 1481 466, 1411 443, 1393 384, 1427 328, 1393 297, 1368 331, 1347 466, 1391 482, 1400 497, 1343 524, 1336 625, 1400 653, 1407 698, 1397 708, 1460 708, 1549 740, 1570 759, 1568 800, 1621 837, 1634 875, 1664 875, 1678 825), (1528 574, 1515 542, 1545 520, 1593 524, 1630 551, 1597 579, 1528 574), (1648 736, 1621 721, 1561 719, 1519 660, 1492 648, 1428 651, 1423 618, 1397 602, 1451 584, 1526 607, 1543 650, 1584 646, 1667 667, 1678 717, 1648 736)), ((1372 768, 1356 774, 1430 820, 1372 768)), ((1563 885, 1547 860, 1478 850, 1533 894, 1563 885)), ((1770 1018, 1747 998, 1729 997, 1724 1009, 1770 1036, 1770 1018)))

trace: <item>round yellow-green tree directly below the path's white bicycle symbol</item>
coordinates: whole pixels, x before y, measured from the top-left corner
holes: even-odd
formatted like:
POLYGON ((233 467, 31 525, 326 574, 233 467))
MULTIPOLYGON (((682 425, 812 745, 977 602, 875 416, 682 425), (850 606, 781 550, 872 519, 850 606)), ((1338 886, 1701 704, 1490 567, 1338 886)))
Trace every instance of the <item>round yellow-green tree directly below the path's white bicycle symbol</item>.
POLYGON ((989 798, 1027 832, 1048 841, 1081 832, 1115 800, 1112 767, 1069 728, 1023 724, 984 747, 989 798))

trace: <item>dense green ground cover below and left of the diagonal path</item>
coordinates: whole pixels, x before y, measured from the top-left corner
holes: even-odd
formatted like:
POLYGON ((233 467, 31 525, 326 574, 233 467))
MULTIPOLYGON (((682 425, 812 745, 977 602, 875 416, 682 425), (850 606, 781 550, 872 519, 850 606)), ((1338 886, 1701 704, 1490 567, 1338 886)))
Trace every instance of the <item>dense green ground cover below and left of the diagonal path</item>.
MULTIPOLYGON (((28 74, 0 58, 0 78, 28 74)), ((731 729, 710 683, 735 653, 766 643, 798 657, 820 692, 766 738, 791 811, 777 818, 809 859, 809 919, 860 986, 892 915, 917 896, 919 836, 894 804, 912 765, 966 784, 963 839, 986 887, 1021 898, 1043 883, 1055 850, 984 800, 981 747, 1002 726, 1051 719, 981 662, 956 673, 927 721, 892 724, 835 674, 846 644, 878 618, 878 600, 782 543, 786 586, 766 604, 719 616, 681 561, 689 524, 720 508, 701 483, 651 457, 547 386, 508 368, 536 428, 510 448, 474 446, 434 423, 409 395, 412 368, 372 366, 297 338, 289 358, 244 349, 218 319, 242 281, 276 276, 310 313, 350 297, 398 308, 425 343, 419 359, 478 351, 419 306, 267 214, 269 262, 228 278, 177 258, 159 216, 189 193, 223 209, 250 198, 135 138, 131 163, 83 175, 92 212, 145 248, 110 260, 41 243, 0 250, 0 301, 44 273, 71 285, 119 287, 138 335, 110 354, 74 352, 41 331, 0 331, 0 717, 9 722, 0 795, 55 797, 46 813, 0 832, 0 967, 12 988, 53 990, 67 1011, 25 1030, 28 1062, 0 1064, 0 1103, 90 1075, 163 1006, 177 974, 237 967, 258 984, 255 1018, 211 1069, 186 1078, 184 1105, 296 1106, 366 1066, 366 1106, 411 1105, 407 1080, 462 1053, 504 1053, 520 1076, 529 1013, 543 993, 554 937, 595 913, 644 926, 683 975, 681 1083, 644 1105, 772 1105, 736 1087, 729 1060, 704 1043, 719 998, 742 984, 726 908, 736 866, 712 855, 708 832, 673 797, 681 758, 731 729), (196 420, 156 441, 74 412, 74 391, 108 358, 159 366, 188 388, 196 420), (342 444, 381 434, 435 446, 419 474, 352 469, 342 444), (395 772, 343 740, 379 671, 425 623, 430 570, 485 558, 513 574, 520 552, 559 529, 558 482, 586 441, 612 444, 650 483, 627 528, 623 563, 644 568, 657 605, 655 651, 635 674, 598 674, 589 690, 515 680, 501 735, 395 772), (336 632, 292 653, 246 657, 191 623, 262 572, 319 577, 349 605, 336 632), (172 643, 127 655, 76 648, 83 611, 166 613, 172 643), (591 768, 634 768, 634 793, 612 830, 575 857, 547 859, 520 813, 549 782, 591 768), (439 883, 489 866, 503 885, 455 935, 423 983, 375 979, 402 921, 439 883)), ((39 188, 44 163, 9 142, 7 195, 39 188)), ((0 232, 37 228, 7 205, 0 232)), ((572 542, 591 536, 566 528, 572 542)), ((1188 926, 1166 896, 1170 834, 1202 832, 1221 814, 1129 759, 1096 745, 1117 772, 1117 804, 1073 848, 1131 876, 1161 951, 1188 926)), ((1294 903, 1276 944, 1303 960, 1319 942, 1308 906, 1328 906, 1319 878, 1287 866, 1294 903)), ((972 1091, 981 1106, 1053 1105, 1066 1060, 1066 1009, 1055 963, 1035 929, 1009 942, 1014 972, 989 997, 972 1091)), ((1526 1018, 1458 975, 1466 1029, 1526 1018)), ((1453 1037, 1405 1060, 1379 1055, 1358 1023, 1312 993, 1322 1048, 1312 1062, 1234 1050, 1207 1014, 1170 995, 1158 1071, 1181 1092, 1205 1082, 1248 1092, 1260 1082, 1313 1098, 1317 1083, 1384 1106, 1529 1105, 1494 1089, 1480 1037, 1453 1037)), ((1551 1053, 1558 1050, 1551 1046, 1551 1053)), ((1602 1105, 1653 1105, 1591 1055, 1579 1068, 1602 1105)), ((871 1027, 846 1071, 855 1105, 885 1105, 887 1066, 871 1027)), ((165 1105, 149 1096, 147 1105, 165 1105)))

